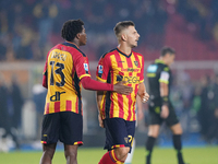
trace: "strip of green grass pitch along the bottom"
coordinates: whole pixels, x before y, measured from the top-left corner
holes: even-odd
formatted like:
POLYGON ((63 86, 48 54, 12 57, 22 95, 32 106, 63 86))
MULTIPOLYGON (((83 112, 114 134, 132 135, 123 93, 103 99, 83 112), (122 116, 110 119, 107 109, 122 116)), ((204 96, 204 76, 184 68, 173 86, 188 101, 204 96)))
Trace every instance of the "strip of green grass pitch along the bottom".
MULTIPOLYGON (((78 164, 97 164, 106 151, 101 148, 80 148, 78 164)), ((218 147, 184 148, 184 159, 190 164, 218 164, 218 147)), ((2 164, 39 164, 40 151, 0 153, 2 164)), ((64 164, 63 151, 57 151, 52 164, 64 164)), ((145 164, 145 149, 136 148, 132 164, 145 164)), ((177 164, 172 148, 154 149, 153 164, 177 164)))

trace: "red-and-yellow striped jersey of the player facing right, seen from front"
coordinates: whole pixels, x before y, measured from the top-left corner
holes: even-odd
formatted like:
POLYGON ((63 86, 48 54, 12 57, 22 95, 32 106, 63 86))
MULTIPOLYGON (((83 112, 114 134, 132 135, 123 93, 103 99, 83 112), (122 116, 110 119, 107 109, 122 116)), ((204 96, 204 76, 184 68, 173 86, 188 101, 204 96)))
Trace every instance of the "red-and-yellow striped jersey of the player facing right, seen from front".
POLYGON ((105 92, 100 104, 102 119, 123 118, 130 121, 135 120, 138 84, 144 82, 144 57, 135 51, 126 56, 116 48, 100 58, 96 77, 101 82, 112 84, 126 81, 126 84, 133 87, 130 95, 105 92))

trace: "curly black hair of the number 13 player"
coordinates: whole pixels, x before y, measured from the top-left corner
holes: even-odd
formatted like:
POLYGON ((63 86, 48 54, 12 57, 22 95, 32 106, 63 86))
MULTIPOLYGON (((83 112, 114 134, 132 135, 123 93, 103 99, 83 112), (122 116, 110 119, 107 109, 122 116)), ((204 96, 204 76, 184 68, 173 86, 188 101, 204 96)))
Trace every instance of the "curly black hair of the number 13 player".
POLYGON ((76 34, 82 33, 83 31, 83 21, 81 20, 69 20, 63 24, 61 30, 61 36, 68 42, 72 42, 76 34))

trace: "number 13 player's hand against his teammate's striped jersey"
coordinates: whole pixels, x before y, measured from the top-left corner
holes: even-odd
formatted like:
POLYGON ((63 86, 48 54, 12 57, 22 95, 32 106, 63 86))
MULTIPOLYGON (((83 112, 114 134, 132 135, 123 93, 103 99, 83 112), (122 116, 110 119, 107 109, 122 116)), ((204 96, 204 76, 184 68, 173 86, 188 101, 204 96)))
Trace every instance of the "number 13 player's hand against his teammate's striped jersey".
POLYGON ((113 91, 119 94, 125 94, 125 95, 131 94, 133 92, 133 87, 124 85, 125 83, 126 83, 125 81, 118 82, 117 84, 113 85, 113 91))

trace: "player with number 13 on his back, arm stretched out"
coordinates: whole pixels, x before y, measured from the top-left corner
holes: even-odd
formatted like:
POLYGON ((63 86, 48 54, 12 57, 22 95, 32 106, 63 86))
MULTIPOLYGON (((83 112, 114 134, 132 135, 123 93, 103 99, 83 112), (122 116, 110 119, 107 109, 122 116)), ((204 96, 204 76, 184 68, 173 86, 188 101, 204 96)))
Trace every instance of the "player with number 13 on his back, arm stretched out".
POLYGON ((40 164, 51 164, 58 140, 64 144, 66 164, 77 164, 77 148, 83 144, 82 85, 86 90, 130 94, 131 86, 100 83, 90 79, 88 58, 80 50, 86 44, 84 23, 70 20, 63 24, 64 43, 47 55, 43 85, 48 89, 43 129, 40 164), (81 85, 82 84, 82 85, 81 85))

